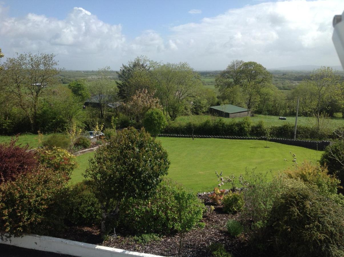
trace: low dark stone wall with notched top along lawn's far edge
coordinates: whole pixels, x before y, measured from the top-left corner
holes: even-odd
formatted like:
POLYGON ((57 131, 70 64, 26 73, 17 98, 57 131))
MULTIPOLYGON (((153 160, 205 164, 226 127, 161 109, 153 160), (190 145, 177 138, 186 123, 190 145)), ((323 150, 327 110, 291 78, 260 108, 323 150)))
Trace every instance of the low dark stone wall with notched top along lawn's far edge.
MULTIPOLYGON (((192 135, 176 135, 176 134, 159 134, 158 137, 181 137, 192 138, 192 135)), ((237 136, 202 136, 194 135, 194 138, 222 138, 222 139, 246 139, 246 140, 266 140, 266 137, 237 137, 237 136)), ((324 150, 327 146, 332 144, 331 141, 313 141, 313 140, 294 140, 287 138, 270 138, 270 142, 289 144, 291 146, 301 146, 313 150, 324 150)))

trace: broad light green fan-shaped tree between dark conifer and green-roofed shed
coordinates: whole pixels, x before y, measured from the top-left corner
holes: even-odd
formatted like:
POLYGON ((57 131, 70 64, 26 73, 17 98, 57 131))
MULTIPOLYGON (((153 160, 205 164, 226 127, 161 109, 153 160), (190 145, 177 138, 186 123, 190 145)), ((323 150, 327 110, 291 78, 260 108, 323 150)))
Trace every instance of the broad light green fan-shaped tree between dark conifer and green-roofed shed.
MULTIPOLYGON (((183 105, 191 102, 198 90, 203 88, 200 75, 187 63, 158 64, 152 71, 157 96, 172 119, 175 119, 183 105)), ((165 111, 164 110, 164 111, 165 111)))

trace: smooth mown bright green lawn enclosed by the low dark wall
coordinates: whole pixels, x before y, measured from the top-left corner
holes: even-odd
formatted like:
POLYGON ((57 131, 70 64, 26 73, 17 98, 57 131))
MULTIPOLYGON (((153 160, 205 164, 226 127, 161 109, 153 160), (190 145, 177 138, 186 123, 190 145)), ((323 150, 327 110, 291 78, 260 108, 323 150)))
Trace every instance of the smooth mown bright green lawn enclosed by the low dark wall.
MULTIPOLYGON (((212 191, 217 185, 215 170, 223 171, 223 176, 232 173, 239 175, 245 169, 257 172, 277 173, 291 166, 291 154, 298 161, 304 159, 316 161, 322 152, 307 148, 268 143, 260 140, 228 140, 189 138, 158 138, 169 154, 171 161, 167 178, 195 192, 212 191), (287 159, 288 161, 285 161, 287 159)), ((86 169, 88 158, 94 152, 77 157, 79 168, 72 174, 72 183, 82 181, 82 172, 86 169)))

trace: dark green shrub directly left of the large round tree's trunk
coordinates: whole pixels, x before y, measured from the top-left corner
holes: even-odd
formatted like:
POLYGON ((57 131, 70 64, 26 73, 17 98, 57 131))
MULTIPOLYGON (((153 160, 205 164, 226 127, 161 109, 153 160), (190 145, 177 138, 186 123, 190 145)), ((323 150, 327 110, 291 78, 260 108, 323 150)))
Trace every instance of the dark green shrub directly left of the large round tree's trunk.
POLYGON ((87 182, 72 186, 67 219, 76 225, 94 225, 101 221, 101 206, 87 182))

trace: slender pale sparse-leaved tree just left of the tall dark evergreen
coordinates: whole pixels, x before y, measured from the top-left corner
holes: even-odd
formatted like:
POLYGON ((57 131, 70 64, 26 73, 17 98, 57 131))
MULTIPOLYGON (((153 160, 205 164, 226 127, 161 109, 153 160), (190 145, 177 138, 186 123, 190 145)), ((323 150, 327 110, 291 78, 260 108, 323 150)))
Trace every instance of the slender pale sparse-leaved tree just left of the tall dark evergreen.
POLYGON ((104 113, 108 105, 118 100, 118 89, 114 85, 111 85, 110 79, 106 76, 109 70, 110 67, 98 69, 99 78, 90 82, 88 85, 92 100, 98 109, 99 118, 104 118, 104 113))

